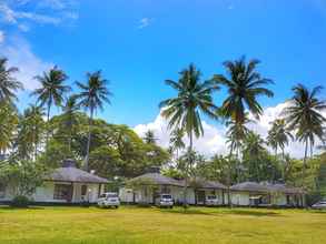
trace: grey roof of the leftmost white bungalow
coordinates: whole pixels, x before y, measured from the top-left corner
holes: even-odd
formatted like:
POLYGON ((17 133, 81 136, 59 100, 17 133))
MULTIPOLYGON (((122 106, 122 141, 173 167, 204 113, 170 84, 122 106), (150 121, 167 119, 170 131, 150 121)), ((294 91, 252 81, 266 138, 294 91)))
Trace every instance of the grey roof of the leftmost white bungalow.
POLYGON ((47 181, 61 181, 61 182, 81 182, 81 183, 108 183, 107 179, 97 176, 86 171, 79 170, 73 166, 58 167, 51 172, 45 180, 47 181))

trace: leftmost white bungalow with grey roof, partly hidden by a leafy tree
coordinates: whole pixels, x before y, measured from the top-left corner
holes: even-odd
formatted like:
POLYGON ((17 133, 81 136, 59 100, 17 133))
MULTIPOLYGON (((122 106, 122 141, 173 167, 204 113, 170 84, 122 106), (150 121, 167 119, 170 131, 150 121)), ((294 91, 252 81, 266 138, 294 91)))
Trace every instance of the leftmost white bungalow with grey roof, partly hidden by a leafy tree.
MULTIPOLYGON (((79 170, 75 161, 66 160, 62 167, 45 176, 42 186, 36 189, 31 200, 37 203, 95 203, 103 193, 108 180, 79 170)), ((0 185, 0 202, 10 202, 14 190, 10 185, 0 185)))

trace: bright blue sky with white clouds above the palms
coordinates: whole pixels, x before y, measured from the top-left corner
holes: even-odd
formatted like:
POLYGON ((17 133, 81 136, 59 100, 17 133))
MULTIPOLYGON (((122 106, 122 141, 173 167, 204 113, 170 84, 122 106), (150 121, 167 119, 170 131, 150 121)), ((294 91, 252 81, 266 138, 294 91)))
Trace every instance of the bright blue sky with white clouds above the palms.
MULTIPOLYGON (((325 84, 325 43, 326 0, 0 0, 0 57, 20 70, 20 110, 33 102, 33 77, 53 65, 72 87, 101 70, 113 96, 97 116, 140 135, 151 129, 164 146, 169 133, 158 103, 176 95, 164 81, 177 80, 189 63, 205 80, 224 73, 226 60, 259 59, 259 72, 275 82, 275 96, 259 98, 265 113, 253 125, 265 136, 293 85, 325 84)), ((215 94, 217 104, 225 98, 224 90, 215 94)), ((226 152, 226 128, 205 116, 204 125, 196 149, 226 152)), ((299 157, 303 145, 287 152, 299 157)))

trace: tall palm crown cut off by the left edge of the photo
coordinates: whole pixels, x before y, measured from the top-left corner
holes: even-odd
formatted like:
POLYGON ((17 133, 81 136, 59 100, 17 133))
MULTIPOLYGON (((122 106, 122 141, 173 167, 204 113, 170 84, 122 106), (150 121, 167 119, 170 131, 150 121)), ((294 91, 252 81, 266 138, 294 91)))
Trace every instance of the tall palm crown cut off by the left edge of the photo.
POLYGON ((0 103, 3 101, 12 103, 13 100, 17 100, 14 93, 23 89, 22 83, 12 75, 18 69, 16 67, 7 69, 7 59, 0 58, 0 103))

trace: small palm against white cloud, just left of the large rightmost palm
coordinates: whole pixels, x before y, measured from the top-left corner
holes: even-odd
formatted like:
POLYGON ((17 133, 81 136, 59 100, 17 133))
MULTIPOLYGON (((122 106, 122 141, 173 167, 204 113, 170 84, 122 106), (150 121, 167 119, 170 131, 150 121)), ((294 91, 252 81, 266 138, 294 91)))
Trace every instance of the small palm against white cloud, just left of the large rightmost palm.
POLYGON ((284 148, 288 145, 289 139, 293 140, 293 135, 287 130, 285 120, 275 120, 267 135, 267 143, 275 150, 275 155, 277 155, 277 150, 280 149, 281 159, 284 159, 284 148))

